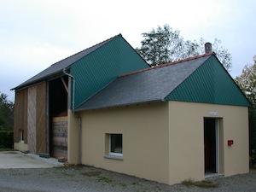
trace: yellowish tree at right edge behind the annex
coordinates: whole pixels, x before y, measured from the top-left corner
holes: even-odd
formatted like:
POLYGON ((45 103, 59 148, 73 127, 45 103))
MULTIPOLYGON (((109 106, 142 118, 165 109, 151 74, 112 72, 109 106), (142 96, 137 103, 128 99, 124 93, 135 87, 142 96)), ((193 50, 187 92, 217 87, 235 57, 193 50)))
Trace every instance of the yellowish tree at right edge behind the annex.
POLYGON ((250 155, 253 165, 256 165, 256 55, 253 62, 253 65, 245 65, 235 81, 253 104, 249 109, 250 155))

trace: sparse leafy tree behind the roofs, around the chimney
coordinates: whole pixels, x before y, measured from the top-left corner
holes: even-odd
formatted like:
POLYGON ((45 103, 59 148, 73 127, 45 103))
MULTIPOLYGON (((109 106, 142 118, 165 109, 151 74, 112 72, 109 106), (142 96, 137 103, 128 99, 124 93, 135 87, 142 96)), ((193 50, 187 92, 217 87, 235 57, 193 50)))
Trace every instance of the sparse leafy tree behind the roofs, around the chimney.
MULTIPOLYGON (((156 30, 153 28, 151 32, 143 32, 142 35, 142 46, 136 50, 152 66, 205 53, 204 44, 206 41, 203 38, 200 39, 199 43, 195 40, 184 40, 180 31, 173 31, 172 27, 168 25, 158 26, 156 30)), ((212 50, 224 67, 230 70, 232 66, 231 55, 220 44, 221 41, 215 38, 212 50)))

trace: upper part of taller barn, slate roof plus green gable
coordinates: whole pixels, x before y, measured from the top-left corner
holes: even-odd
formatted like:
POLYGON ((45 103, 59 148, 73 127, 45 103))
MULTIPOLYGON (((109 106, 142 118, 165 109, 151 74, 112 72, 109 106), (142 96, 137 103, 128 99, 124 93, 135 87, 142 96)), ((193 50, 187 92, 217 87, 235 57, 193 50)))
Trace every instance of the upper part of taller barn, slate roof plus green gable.
MULTIPOLYGON (((75 78, 74 107, 76 108, 81 102, 117 79, 119 74, 148 67, 148 63, 119 34, 56 62, 13 90, 20 90, 38 82, 64 76, 66 74, 63 73, 63 69, 69 69, 75 78)), ((73 86, 71 89, 73 92, 73 86)))

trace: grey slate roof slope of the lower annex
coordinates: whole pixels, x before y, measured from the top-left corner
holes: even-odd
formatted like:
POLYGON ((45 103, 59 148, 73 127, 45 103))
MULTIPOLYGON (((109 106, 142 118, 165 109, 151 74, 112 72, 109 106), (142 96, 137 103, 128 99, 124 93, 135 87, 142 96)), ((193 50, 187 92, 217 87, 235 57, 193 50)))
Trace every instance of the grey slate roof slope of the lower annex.
POLYGON ((121 76, 82 103, 79 108, 76 108, 76 111, 145 102, 164 102, 165 97, 210 56, 202 55, 186 61, 121 76))

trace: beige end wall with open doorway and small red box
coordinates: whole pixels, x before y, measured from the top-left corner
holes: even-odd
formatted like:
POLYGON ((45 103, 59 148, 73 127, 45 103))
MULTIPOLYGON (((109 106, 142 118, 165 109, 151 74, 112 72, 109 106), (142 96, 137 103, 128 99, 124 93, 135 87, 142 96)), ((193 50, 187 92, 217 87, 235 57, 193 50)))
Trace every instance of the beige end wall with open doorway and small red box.
POLYGON ((247 112, 246 107, 169 102, 169 183, 204 179, 204 117, 218 118, 219 172, 224 176, 248 172, 247 112), (232 146, 228 139, 234 140, 232 146))

